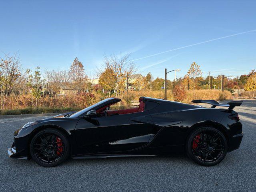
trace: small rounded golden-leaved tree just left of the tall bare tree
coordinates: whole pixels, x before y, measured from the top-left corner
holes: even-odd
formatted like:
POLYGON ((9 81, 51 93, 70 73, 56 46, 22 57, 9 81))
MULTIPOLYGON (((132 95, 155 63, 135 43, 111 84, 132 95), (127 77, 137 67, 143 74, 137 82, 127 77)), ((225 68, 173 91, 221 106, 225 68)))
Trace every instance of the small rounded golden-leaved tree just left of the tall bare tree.
POLYGON ((108 91, 110 96, 111 90, 114 90, 116 86, 116 75, 111 68, 106 68, 104 72, 99 75, 99 84, 104 90, 108 91))

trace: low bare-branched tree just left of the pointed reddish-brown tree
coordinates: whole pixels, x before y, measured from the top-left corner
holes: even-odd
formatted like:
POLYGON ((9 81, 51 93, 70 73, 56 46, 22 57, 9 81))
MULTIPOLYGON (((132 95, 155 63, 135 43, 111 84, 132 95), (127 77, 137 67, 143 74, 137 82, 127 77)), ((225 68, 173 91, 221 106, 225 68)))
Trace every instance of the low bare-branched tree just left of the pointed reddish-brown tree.
POLYGON ((58 88, 61 84, 67 83, 70 80, 67 70, 46 70, 45 77, 48 81, 48 89, 53 93, 58 93, 58 88))

